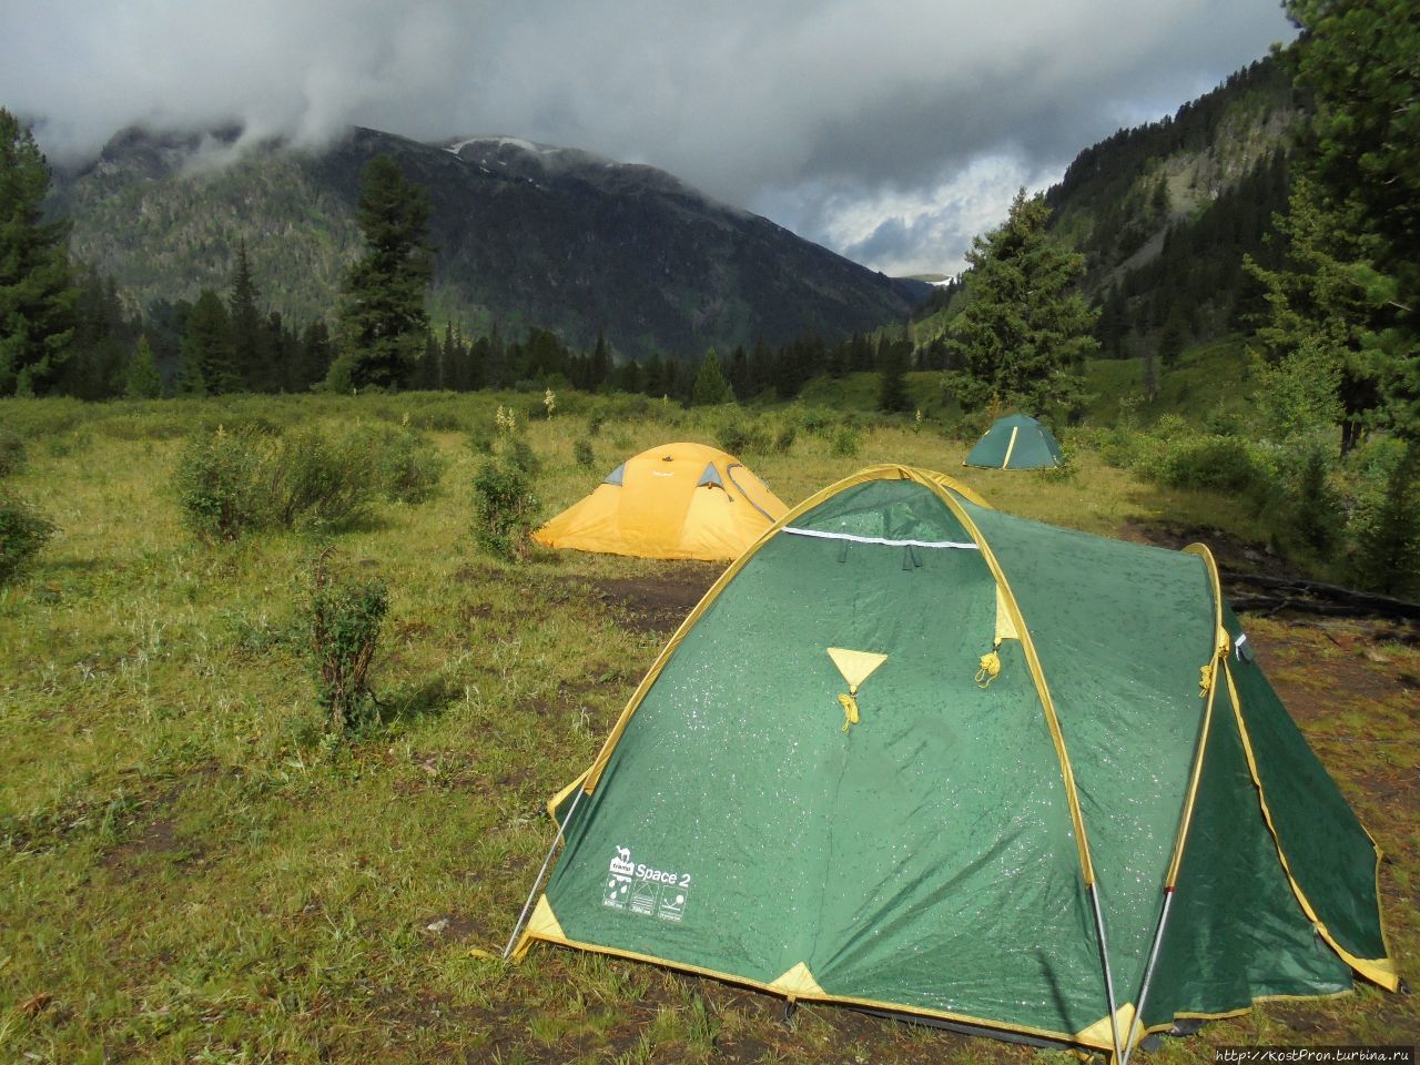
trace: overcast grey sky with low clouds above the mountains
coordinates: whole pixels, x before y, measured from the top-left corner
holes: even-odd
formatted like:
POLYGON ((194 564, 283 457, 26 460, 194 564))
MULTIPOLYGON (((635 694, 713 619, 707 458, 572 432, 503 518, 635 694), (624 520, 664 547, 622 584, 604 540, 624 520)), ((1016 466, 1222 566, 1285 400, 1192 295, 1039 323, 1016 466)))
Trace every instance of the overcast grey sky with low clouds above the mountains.
POLYGON ((1277 0, 0 0, 54 159, 143 122, 507 133, 670 170, 890 274, 1292 28, 1277 0))

